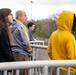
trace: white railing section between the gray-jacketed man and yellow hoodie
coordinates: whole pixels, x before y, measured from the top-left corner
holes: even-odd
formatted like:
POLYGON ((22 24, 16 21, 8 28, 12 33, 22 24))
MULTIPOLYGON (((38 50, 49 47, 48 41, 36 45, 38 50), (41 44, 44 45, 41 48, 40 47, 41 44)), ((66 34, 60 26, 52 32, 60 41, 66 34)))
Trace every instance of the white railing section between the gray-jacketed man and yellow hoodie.
MULTIPOLYGON (((40 43, 42 43, 43 44, 43 42, 40 42, 40 43)), ((47 46, 44 46, 44 44, 43 45, 40 45, 40 43, 39 43, 39 45, 38 44, 31 44, 31 46, 33 47, 33 56, 32 56, 32 60, 33 61, 37 61, 38 60, 38 52, 39 52, 39 50, 41 50, 41 49, 44 49, 44 50, 46 50, 47 49, 47 46)), ((40 68, 33 68, 32 69, 32 72, 33 72, 33 74, 34 75, 41 75, 41 67, 40 68)))

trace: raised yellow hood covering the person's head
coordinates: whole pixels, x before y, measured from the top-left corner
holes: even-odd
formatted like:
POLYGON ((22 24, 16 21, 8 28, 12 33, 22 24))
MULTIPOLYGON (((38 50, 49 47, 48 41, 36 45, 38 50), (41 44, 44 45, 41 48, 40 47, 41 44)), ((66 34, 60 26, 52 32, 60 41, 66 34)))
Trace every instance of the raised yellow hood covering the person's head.
POLYGON ((71 32, 73 27, 74 13, 71 11, 62 11, 56 21, 59 30, 71 32))

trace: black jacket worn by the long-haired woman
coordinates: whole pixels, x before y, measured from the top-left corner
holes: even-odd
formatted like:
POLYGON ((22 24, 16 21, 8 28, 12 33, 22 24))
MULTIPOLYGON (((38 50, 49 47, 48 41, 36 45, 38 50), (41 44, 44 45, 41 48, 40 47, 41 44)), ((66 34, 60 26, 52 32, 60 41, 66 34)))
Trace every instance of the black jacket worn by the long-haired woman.
POLYGON ((0 62, 14 61, 8 34, 6 29, 0 25, 0 62))

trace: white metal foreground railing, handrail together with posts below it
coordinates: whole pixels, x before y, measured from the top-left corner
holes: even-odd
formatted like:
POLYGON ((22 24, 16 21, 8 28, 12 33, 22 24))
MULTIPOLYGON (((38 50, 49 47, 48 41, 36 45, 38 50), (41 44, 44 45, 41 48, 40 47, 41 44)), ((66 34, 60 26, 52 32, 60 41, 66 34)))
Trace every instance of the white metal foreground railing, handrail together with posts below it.
MULTIPOLYGON (((59 67, 67 66, 67 75, 70 75, 70 67, 76 66, 76 60, 43 60, 43 61, 21 61, 21 62, 6 62, 0 63, 0 70, 11 70, 11 69, 29 69, 42 68, 41 75, 48 75, 48 67, 57 67, 56 75, 59 75, 59 67)), ((17 73, 16 75, 18 75, 17 73)), ((7 75, 7 74, 4 74, 7 75)), ((31 73, 29 72, 29 75, 31 73)))

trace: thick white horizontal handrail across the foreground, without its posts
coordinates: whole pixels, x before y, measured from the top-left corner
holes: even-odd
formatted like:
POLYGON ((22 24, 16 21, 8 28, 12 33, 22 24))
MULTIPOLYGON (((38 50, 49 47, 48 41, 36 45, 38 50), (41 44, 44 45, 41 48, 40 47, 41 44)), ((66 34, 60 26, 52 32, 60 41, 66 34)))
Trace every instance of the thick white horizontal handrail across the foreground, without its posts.
POLYGON ((0 70, 24 69, 35 67, 76 66, 76 60, 43 60, 0 63, 0 70), (64 64, 65 63, 65 64, 64 64))

